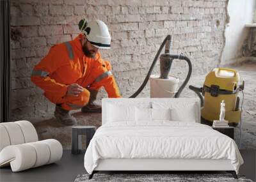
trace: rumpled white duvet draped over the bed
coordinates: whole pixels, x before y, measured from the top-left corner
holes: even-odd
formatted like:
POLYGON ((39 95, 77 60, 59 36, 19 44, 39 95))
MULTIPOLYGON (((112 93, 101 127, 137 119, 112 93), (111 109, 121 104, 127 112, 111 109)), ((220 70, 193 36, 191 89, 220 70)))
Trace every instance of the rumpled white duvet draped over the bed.
POLYGON ((207 125, 174 121, 100 126, 84 155, 86 171, 92 174, 99 159, 106 158, 229 159, 237 174, 243 164, 230 137, 207 125))

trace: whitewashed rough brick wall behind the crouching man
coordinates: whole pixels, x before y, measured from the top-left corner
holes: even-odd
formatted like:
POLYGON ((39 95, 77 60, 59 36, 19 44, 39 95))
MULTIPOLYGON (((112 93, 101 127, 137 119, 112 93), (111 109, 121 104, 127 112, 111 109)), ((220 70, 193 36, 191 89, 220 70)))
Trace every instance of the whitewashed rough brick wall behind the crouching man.
MULTIPOLYGON (((12 120, 53 112, 54 105, 30 81, 30 73, 52 45, 77 36, 83 17, 109 26, 112 49, 100 52, 111 62, 122 96, 128 97, 145 79, 167 34, 172 35, 172 54, 191 59, 193 75, 205 75, 216 67, 224 44, 226 6, 226 0, 11 1, 12 120)), ((170 74, 182 80, 187 70, 185 63, 174 61, 170 74)), ((159 63, 154 73, 159 73, 159 63)), ((149 96, 148 85, 140 95, 144 96, 149 96)), ((106 97, 103 89, 102 97, 106 97)))

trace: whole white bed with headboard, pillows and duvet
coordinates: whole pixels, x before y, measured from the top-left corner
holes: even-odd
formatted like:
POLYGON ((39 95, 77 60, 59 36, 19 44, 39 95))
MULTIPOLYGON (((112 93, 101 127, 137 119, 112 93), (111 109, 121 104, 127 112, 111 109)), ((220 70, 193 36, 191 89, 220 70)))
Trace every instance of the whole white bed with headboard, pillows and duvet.
POLYGON ((194 98, 106 98, 102 126, 84 155, 97 171, 230 171, 243 164, 234 140, 200 124, 194 98), (148 116, 149 114, 149 116, 148 116))

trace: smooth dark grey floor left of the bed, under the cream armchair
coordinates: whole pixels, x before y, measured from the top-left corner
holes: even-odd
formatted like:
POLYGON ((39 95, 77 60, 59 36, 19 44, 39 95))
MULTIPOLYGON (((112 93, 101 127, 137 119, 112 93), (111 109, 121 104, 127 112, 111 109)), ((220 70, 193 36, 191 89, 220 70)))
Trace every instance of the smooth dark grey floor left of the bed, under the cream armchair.
POLYGON ((72 155, 70 150, 64 150, 61 160, 49 165, 21 172, 12 172, 10 167, 4 167, 0 169, 0 181, 74 181, 78 174, 86 173, 83 161, 84 153, 72 155))

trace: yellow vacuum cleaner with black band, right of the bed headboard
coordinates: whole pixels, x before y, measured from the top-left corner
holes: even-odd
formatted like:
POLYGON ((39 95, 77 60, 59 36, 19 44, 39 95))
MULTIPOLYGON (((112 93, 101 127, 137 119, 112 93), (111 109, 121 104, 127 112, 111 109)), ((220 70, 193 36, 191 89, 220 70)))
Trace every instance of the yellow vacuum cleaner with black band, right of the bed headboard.
POLYGON ((202 120, 213 122, 219 120, 220 103, 225 100, 225 119, 228 123, 237 123, 241 120, 239 109, 239 91, 244 89, 244 81, 239 85, 240 77, 236 70, 230 68, 214 68, 205 77, 204 87, 189 86, 201 100, 202 120), (203 98, 203 96, 204 98, 203 98))

